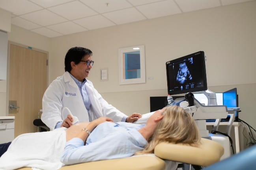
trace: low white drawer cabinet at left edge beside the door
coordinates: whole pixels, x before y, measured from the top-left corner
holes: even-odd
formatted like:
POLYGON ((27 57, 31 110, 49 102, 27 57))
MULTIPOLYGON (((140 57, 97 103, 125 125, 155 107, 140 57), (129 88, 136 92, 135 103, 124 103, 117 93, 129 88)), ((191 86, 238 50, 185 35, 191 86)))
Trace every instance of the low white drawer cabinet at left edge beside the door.
POLYGON ((14 116, 0 116, 0 144, 14 139, 14 116))

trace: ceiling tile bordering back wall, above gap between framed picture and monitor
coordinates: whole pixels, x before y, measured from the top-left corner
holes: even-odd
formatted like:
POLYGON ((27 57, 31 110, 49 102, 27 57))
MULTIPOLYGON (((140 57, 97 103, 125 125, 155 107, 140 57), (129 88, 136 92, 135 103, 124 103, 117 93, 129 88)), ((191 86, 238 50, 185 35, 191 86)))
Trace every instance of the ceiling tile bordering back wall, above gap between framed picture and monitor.
POLYGON ((165 0, 136 7, 147 18, 157 18, 166 15, 181 13, 173 0, 165 0))

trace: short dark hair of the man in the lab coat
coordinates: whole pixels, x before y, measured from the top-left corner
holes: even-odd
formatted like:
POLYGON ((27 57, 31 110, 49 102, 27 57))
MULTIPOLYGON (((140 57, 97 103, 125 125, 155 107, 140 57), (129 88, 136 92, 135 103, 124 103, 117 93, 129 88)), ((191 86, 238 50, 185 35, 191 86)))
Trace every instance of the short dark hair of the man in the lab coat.
POLYGON ((83 47, 73 47, 67 51, 65 56, 65 71, 71 71, 71 62, 75 62, 78 64, 80 60, 85 56, 90 55, 92 56, 92 51, 88 48, 83 47))

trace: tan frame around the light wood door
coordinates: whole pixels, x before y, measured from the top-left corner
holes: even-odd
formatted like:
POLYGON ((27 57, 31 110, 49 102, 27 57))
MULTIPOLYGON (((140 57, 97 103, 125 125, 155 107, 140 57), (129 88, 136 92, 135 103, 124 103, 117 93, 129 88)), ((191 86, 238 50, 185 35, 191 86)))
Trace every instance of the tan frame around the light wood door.
POLYGON ((23 44, 19 44, 17 42, 13 41, 8 41, 8 56, 7 56, 7 83, 6 83, 6 116, 9 115, 9 83, 10 83, 10 58, 11 58, 11 44, 15 46, 20 46, 23 48, 31 49, 34 51, 38 51, 41 53, 47 54, 47 66, 46 66, 46 86, 48 87, 48 82, 49 82, 49 52, 44 51, 42 49, 37 49, 31 46, 26 46, 23 44))

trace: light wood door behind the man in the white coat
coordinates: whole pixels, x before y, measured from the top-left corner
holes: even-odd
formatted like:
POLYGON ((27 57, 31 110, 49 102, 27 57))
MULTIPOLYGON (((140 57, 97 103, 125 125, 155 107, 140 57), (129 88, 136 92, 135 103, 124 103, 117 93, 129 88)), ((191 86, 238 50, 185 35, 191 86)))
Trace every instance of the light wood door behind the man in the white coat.
POLYGON ((42 109, 42 98, 47 88, 47 54, 10 45, 9 101, 17 101, 15 137, 37 132, 33 121, 42 109))

